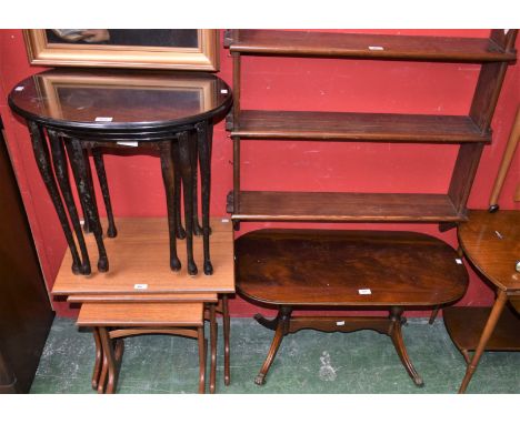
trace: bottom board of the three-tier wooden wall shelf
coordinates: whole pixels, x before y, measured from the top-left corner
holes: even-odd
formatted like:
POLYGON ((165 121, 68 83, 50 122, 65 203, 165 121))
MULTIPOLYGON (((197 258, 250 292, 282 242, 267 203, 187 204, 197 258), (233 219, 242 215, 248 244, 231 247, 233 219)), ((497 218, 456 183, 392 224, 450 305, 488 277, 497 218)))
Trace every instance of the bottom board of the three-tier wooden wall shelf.
POLYGON ((240 221, 460 222, 447 194, 241 191, 240 221))

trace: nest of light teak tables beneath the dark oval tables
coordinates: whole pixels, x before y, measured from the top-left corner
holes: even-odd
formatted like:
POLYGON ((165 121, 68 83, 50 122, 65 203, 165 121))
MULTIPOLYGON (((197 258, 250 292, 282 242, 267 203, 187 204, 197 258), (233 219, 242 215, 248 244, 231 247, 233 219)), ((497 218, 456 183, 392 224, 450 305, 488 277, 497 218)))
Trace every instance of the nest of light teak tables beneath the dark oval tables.
MULTIPOLYGON (((193 336, 199 341, 202 357, 206 351, 201 349, 200 343, 204 337, 200 330, 203 327, 203 320, 208 320, 211 359, 209 388, 214 393, 217 312, 223 319, 224 384, 230 384, 228 295, 234 292, 233 231, 227 219, 212 219, 210 224, 214 266, 211 276, 190 275, 188 270, 172 273, 168 263, 169 234, 166 218, 118 219, 120 235, 106 239, 107 252, 112 259, 110 272, 94 270, 87 277, 74 275, 70 272, 72 255, 69 251, 66 253, 52 294, 68 296, 67 300, 71 303, 80 303, 78 325, 94 329, 97 361, 92 388, 99 393, 116 391, 123 351, 122 339, 129 335, 182 333, 193 336), (198 310, 193 312, 193 307, 199 307, 192 306, 193 304, 200 306, 200 313, 198 310), (121 310, 128 311, 128 314, 121 315, 121 310)), ((84 240, 87 249, 96 246, 92 234, 87 234, 84 240)), ((180 243, 182 246, 186 241, 180 243)), ((202 250, 203 241, 196 238, 194 254, 202 253, 202 250)), ((181 260, 186 259, 184 252, 179 252, 181 260)), ((200 365, 202 372, 202 362, 200 365)), ((199 391, 202 391, 203 381, 206 377, 200 374, 199 391)))

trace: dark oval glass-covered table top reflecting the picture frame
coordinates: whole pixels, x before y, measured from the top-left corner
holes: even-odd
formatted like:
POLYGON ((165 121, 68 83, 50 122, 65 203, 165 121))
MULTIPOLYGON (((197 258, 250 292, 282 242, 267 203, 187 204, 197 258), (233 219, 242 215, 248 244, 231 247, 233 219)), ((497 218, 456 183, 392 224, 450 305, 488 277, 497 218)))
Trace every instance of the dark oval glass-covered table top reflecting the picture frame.
POLYGON ((19 82, 9 105, 63 130, 164 130, 223 118, 229 85, 201 72, 53 69, 19 82))

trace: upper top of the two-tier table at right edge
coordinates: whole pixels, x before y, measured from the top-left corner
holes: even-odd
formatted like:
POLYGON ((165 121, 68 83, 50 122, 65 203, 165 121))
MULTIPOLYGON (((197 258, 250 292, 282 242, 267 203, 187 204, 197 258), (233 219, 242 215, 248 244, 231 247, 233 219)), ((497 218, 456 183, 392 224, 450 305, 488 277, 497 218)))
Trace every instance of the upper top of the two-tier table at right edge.
POLYGON ((459 228, 468 260, 497 287, 520 291, 520 211, 469 211, 459 228))

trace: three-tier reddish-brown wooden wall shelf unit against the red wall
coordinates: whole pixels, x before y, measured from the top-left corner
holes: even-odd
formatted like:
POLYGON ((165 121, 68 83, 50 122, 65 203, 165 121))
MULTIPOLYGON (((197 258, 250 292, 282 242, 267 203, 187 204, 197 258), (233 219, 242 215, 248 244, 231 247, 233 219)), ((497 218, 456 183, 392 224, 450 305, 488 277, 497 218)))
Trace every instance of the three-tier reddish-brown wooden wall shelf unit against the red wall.
POLYGON ((463 222, 477 166, 491 142, 491 119, 508 64, 516 60, 517 30, 492 30, 488 39, 349 34, 309 31, 228 30, 233 58, 233 111, 227 128, 233 140, 233 221, 393 221, 463 222), (324 111, 242 110, 243 55, 290 55, 481 64, 468 115, 424 115, 324 111), (242 192, 242 140, 369 141, 459 144, 446 194, 359 194, 242 192), (323 205, 323 195, 331 203, 323 205), (360 200, 366 206, 359 206, 360 200), (276 205, 276 208, 272 208, 276 205), (331 210, 328 210, 328 208, 331 210), (309 211, 311 209, 312 211, 309 211), (271 211, 267 213, 267 211, 271 211))

